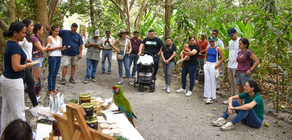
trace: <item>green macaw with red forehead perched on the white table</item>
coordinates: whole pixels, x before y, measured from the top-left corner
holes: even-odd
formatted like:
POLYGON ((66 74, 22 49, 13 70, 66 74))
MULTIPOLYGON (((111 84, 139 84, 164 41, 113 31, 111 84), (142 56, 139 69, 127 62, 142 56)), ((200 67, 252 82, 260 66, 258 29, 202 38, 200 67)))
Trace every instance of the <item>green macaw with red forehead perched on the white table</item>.
MULTIPOLYGON (((114 92, 114 103, 118 107, 118 110, 114 110, 114 111, 120 111, 119 113, 125 112, 128 120, 135 127, 134 122, 133 122, 133 117, 135 117, 136 119, 137 117, 134 115, 132 111, 129 100, 124 96, 122 87, 119 85, 115 85, 112 87, 112 89, 114 92)), ((114 114, 117 114, 117 113, 114 113, 114 114)))

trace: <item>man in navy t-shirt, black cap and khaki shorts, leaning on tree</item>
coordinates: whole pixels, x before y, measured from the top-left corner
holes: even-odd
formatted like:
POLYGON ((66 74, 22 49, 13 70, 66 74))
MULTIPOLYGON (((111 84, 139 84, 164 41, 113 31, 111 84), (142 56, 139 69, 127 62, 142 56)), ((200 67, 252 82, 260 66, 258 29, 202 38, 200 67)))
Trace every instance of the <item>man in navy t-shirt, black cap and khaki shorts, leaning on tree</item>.
POLYGON ((75 84, 74 81, 74 73, 75 73, 75 66, 78 66, 80 63, 80 59, 82 56, 82 46, 83 41, 80 34, 76 33, 78 28, 78 25, 76 23, 73 23, 71 25, 71 30, 59 30, 59 36, 62 37, 62 45, 64 46, 70 46, 70 48, 65 49, 62 51, 64 66, 62 69, 62 81, 61 84, 65 85, 65 76, 68 70, 68 66, 71 63, 71 73, 70 73, 70 79, 69 82, 72 84, 75 84))

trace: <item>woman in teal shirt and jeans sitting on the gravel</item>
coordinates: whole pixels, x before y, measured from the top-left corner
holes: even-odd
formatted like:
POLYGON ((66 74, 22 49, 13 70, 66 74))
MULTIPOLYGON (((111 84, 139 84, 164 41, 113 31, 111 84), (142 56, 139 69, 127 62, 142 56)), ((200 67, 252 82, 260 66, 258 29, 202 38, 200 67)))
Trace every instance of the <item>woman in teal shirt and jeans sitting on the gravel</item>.
POLYGON ((241 121, 243 124, 252 127, 260 128, 264 120, 264 102, 261 96, 257 93, 261 89, 257 86, 257 82, 253 80, 247 81, 244 86, 244 92, 228 98, 228 108, 221 118, 218 118, 212 124, 222 126, 221 129, 228 131, 233 129, 233 126, 241 121), (240 106, 236 99, 244 99, 245 105, 240 106), (229 115, 235 110, 237 116, 231 121, 226 122, 229 115))

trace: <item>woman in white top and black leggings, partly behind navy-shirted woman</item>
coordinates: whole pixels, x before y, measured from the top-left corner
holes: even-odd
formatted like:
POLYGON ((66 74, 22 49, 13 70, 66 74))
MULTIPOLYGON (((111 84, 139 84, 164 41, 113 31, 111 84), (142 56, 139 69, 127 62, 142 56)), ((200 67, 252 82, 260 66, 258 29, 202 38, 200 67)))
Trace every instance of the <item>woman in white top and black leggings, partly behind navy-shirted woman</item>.
MULTIPOLYGON (((33 23, 31 20, 28 19, 24 19, 23 21, 21 21, 25 27, 26 27, 26 36, 23 39, 23 41, 19 41, 19 45, 20 47, 23 49, 23 51, 26 54, 27 57, 27 61, 28 62, 32 62, 31 58, 32 58, 32 41, 31 41, 31 35, 29 33, 32 32, 32 30, 34 29, 33 23)), ((40 51, 36 51, 33 52, 33 54, 35 53, 39 53, 40 51)), ((39 97, 36 97, 35 94, 35 81, 31 75, 31 70, 29 68, 26 68, 25 70, 25 79, 24 82, 27 85, 27 92, 28 92, 28 99, 27 99, 27 103, 32 103, 33 107, 37 107, 38 104, 38 100, 40 99, 39 97)), ((26 110, 29 109, 29 107, 25 107, 26 110)))

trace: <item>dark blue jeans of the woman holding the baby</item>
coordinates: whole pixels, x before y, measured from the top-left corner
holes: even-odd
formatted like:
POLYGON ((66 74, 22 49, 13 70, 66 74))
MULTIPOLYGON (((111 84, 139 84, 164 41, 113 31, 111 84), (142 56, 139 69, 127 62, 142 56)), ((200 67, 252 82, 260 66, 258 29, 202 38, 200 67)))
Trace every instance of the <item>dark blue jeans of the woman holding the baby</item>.
POLYGON ((192 91, 195 84, 195 69, 197 69, 198 65, 182 65, 181 69, 181 82, 182 89, 186 89, 186 76, 189 74, 190 77, 190 89, 192 91))

